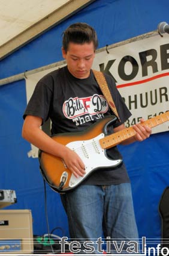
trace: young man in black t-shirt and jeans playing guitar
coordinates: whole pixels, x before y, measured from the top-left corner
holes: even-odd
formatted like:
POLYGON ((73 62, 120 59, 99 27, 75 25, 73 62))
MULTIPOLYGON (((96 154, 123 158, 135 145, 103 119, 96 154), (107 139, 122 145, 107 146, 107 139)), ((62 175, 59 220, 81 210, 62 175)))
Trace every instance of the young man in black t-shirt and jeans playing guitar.
MULTIPOLYGON (((24 113, 23 138, 41 151, 60 158, 77 179, 86 173, 82 158, 62 142, 53 140, 40 126, 50 117, 52 134, 77 133, 101 118, 114 116, 91 69, 97 46, 95 30, 86 23, 68 27, 63 33, 62 44, 67 66, 47 74, 38 82, 24 113)), ((108 130, 121 131, 131 113, 114 80, 106 74, 105 79, 119 115, 108 130)), ((123 144, 141 142, 150 136, 151 129, 143 122, 133 126, 135 135, 123 144)), ((119 156, 116 147, 107 150, 107 158, 114 155, 119 156)), ((67 212, 71 239, 98 239, 102 231, 105 237, 118 241, 138 238, 131 186, 123 163, 116 169, 96 170, 75 189, 61 194, 61 199, 67 212)))

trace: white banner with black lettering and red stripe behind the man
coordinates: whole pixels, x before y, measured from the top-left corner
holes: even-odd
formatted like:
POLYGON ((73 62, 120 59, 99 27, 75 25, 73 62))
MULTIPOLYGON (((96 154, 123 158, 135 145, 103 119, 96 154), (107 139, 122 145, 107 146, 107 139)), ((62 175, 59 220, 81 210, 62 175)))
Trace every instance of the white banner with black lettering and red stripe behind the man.
MULTIPOLYGON (((169 35, 143 36, 145 38, 99 49, 93 63, 93 69, 108 73, 116 80, 117 88, 132 113, 125 123, 126 127, 138 123, 142 117, 147 120, 169 111, 169 35)), ((61 66, 64 65, 62 62, 61 66)), ((61 66, 27 77, 27 101, 37 81, 61 66)), ((152 132, 168 130, 166 122, 153 128, 152 132)))

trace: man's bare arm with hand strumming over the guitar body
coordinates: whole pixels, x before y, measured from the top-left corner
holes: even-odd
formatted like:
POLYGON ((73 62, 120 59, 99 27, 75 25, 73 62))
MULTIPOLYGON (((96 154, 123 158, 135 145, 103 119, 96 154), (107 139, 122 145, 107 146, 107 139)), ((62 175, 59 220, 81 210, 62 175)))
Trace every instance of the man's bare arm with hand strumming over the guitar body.
POLYGON ((44 133, 40 128, 41 123, 42 119, 40 117, 26 116, 22 128, 22 137, 44 152, 55 155, 56 157, 61 157, 68 169, 70 169, 76 177, 83 176, 85 173, 85 165, 79 155, 44 133))

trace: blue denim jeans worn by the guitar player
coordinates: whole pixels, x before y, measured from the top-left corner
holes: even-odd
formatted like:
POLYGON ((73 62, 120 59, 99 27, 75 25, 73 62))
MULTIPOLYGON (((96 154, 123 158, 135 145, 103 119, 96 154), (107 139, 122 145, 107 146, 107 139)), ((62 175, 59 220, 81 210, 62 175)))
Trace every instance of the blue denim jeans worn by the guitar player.
MULTIPOLYGON (((72 240, 102 237, 121 242, 138 239, 131 184, 82 185, 61 195, 72 240)), ((118 245, 119 247, 119 245, 118 245)))

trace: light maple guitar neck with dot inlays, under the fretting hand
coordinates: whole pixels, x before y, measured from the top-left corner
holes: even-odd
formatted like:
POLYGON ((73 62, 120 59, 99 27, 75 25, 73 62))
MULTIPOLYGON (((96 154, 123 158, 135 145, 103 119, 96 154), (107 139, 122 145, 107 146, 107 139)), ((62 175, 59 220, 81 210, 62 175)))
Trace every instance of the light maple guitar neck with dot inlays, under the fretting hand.
MULTIPOLYGON (((149 128, 153 128, 157 125, 161 125, 161 123, 167 122, 169 120, 169 111, 164 114, 160 114, 159 116, 152 117, 149 120, 141 123, 141 125, 146 125, 149 128)), ((135 130, 131 127, 125 128, 122 131, 117 131, 117 133, 113 133, 109 136, 104 137, 99 140, 99 143, 103 149, 108 149, 113 146, 116 146, 123 142, 126 139, 135 136, 135 130)))

